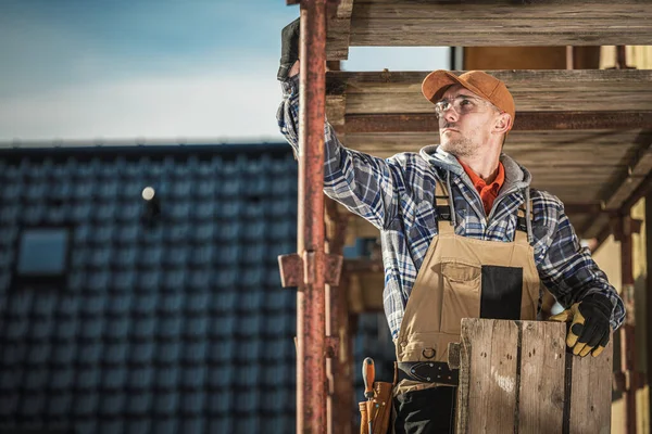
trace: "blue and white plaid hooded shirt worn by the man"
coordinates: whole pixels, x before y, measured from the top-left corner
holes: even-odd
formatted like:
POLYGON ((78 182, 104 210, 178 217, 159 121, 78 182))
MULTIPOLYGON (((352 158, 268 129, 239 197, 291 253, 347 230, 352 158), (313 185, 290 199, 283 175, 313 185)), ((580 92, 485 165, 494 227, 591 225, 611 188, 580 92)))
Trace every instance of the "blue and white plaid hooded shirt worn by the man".
MULTIPOLYGON (((281 82, 281 88, 278 126, 298 152, 298 76, 281 82)), ((623 301, 588 248, 580 247, 563 203, 546 191, 531 189, 529 173, 509 156, 501 155, 506 179, 486 216, 479 194, 463 168, 450 155, 446 162, 446 152, 436 146, 383 159, 344 148, 328 123, 324 133, 324 192, 380 230, 383 299, 394 340, 424 256, 438 233, 436 182, 448 183, 455 210, 455 233, 477 240, 513 241, 517 209, 529 196, 534 214, 530 244, 541 282, 564 308, 590 293, 606 295, 614 305, 612 329, 623 323, 623 301), (438 164, 437 157, 443 158, 444 164, 438 164)))

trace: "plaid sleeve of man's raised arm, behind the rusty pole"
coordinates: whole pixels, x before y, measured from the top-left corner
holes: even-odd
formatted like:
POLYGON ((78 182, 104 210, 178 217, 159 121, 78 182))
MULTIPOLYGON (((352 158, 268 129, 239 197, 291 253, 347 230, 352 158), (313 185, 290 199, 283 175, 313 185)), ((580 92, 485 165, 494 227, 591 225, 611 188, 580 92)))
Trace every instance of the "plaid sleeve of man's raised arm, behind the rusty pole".
MULTIPOLYGON (((298 154, 299 76, 283 81, 281 87, 284 98, 276 118, 298 154)), ((344 148, 328 122, 324 126, 324 192, 377 228, 385 227, 398 207, 400 165, 344 148)))

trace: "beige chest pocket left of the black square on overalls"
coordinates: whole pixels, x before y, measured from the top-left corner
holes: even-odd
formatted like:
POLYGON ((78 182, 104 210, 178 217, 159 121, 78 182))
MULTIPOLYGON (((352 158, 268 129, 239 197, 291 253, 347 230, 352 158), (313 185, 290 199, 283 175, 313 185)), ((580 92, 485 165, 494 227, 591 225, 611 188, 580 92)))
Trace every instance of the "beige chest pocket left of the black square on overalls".
POLYGON ((441 326, 444 333, 460 334, 462 318, 480 316, 482 269, 479 265, 448 261, 441 264, 441 326))

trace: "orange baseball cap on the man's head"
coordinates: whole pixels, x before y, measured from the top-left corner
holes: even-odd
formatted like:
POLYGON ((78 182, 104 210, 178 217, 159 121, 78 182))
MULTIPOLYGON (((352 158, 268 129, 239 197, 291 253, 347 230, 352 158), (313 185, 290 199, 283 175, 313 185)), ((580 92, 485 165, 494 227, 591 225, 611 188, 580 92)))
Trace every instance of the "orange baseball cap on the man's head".
POLYGON ((469 71, 461 76, 443 69, 435 71, 424 78, 422 93, 435 104, 441 100, 446 89, 452 85, 460 85, 509 113, 512 116, 512 126, 514 126, 516 106, 512 93, 504 82, 482 71, 469 71))

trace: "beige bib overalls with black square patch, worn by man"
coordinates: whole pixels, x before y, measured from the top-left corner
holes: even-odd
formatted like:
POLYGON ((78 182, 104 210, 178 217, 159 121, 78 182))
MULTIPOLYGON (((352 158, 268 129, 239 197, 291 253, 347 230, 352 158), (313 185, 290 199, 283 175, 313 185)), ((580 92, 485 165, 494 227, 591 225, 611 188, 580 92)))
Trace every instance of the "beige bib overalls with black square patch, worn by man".
MULTIPOLYGON (((441 182, 436 201, 453 215, 441 182)), ((525 217, 524 206, 518 216, 525 217)), ((539 275, 527 232, 516 230, 513 242, 497 242, 456 235, 451 221, 439 219, 438 226, 405 306, 396 341, 399 362, 448 362, 448 344, 460 342, 462 318, 537 317, 539 275)), ((434 379, 404 379, 394 396, 437 385, 434 379)))

